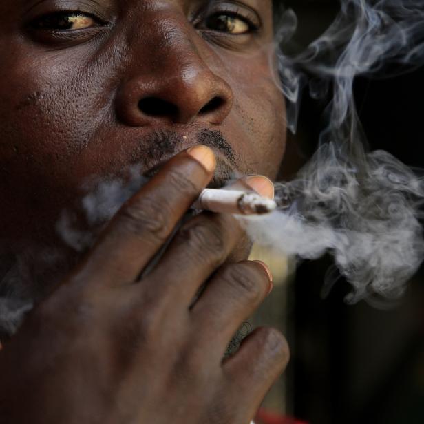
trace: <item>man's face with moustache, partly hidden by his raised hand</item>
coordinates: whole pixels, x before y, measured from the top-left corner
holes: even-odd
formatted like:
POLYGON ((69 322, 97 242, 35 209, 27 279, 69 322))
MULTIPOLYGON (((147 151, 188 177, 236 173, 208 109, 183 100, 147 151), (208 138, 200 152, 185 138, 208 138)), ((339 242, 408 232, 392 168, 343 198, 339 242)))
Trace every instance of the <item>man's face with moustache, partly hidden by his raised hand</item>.
POLYGON ((271 0, 2 0, 0 237, 47 243, 90 178, 196 143, 218 184, 275 177, 272 21, 271 0))

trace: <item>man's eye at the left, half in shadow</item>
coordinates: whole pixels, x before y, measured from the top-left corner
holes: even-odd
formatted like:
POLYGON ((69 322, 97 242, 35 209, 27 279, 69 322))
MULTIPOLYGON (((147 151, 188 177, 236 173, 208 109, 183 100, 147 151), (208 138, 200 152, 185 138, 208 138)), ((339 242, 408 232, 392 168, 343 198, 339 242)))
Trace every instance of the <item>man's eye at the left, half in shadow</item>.
POLYGON ((39 30, 84 30, 98 25, 94 17, 82 12, 60 12, 38 19, 34 28, 39 30))

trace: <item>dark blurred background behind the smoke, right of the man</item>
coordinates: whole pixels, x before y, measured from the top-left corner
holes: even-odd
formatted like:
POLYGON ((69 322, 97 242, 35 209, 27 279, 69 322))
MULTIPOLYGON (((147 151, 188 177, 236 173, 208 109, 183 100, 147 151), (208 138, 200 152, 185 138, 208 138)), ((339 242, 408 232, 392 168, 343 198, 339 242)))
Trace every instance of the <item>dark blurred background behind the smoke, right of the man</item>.
MULTIPOLYGON (((299 17, 299 50, 339 8, 337 0, 284 3, 299 17)), ((370 149, 424 169, 424 68, 392 79, 359 78, 355 98, 370 149)), ((290 179, 315 150, 322 107, 304 96, 282 178, 290 179)), ((292 352, 286 374, 264 402, 268 412, 311 424, 424 423, 423 267, 398 304, 376 309, 345 304, 350 287, 343 280, 323 295, 328 257, 295 271, 293 261, 272 252, 257 248, 253 255, 271 264, 276 285, 252 324, 279 327, 292 352)))

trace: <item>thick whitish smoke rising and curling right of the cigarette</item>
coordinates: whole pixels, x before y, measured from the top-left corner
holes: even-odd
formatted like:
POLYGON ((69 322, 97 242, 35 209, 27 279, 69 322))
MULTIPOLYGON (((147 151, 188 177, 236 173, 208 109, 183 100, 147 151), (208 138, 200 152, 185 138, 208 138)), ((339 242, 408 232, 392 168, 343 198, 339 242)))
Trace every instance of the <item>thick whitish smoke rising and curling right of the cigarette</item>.
MULTIPOLYGON (((287 10, 279 47, 296 25, 287 10)), ((295 57, 279 50, 278 59, 289 129, 296 130, 306 85, 312 98, 332 88, 328 126, 297 178, 277 184, 279 210, 245 220, 248 232, 300 258, 331 253, 352 284, 349 302, 372 301, 374 295, 396 299, 423 261, 424 181, 390 153, 365 151, 353 83, 359 75, 390 76, 424 64, 424 2, 341 0, 339 14, 319 39, 295 57)))

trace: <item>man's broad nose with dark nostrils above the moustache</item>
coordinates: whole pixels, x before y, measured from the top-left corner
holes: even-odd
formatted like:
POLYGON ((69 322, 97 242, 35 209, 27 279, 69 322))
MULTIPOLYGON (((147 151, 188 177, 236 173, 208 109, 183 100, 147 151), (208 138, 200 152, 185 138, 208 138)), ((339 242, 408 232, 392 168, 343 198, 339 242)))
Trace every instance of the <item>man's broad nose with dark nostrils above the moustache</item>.
POLYGON ((145 60, 134 52, 118 92, 120 120, 133 126, 221 124, 233 104, 231 87, 202 59, 189 34, 173 31, 164 34, 166 42, 158 39, 161 31, 142 41, 145 60))

